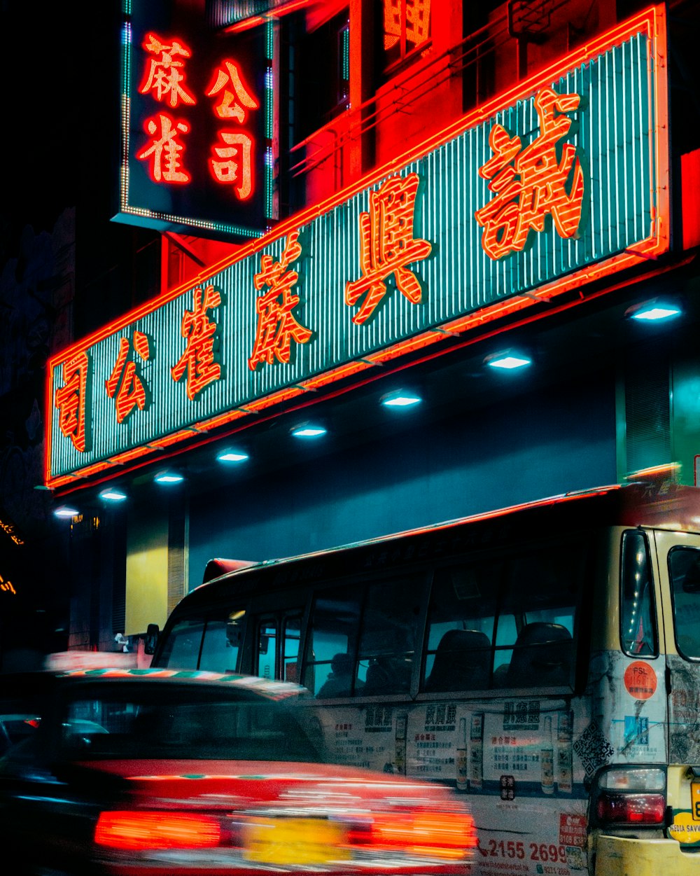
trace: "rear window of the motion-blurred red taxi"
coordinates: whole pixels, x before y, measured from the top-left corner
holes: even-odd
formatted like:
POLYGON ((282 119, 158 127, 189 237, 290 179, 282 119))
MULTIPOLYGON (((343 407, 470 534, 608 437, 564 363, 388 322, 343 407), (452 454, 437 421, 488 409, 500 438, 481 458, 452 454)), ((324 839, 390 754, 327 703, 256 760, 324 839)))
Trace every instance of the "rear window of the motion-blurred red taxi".
POLYGON ((241 689, 80 684, 58 717, 66 759, 318 760, 288 704, 241 689))

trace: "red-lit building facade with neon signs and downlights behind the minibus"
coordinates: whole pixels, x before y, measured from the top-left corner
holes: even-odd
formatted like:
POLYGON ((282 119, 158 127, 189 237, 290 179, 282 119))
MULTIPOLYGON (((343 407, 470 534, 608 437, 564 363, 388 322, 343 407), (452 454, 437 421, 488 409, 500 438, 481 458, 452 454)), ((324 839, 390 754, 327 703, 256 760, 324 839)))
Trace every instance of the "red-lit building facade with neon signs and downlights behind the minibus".
POLYGON ((696 4, 134 2, 120 27, 114 218, 159 288, 46 364, 68 646, 133 645, 212 557, 696 484, 696 4))

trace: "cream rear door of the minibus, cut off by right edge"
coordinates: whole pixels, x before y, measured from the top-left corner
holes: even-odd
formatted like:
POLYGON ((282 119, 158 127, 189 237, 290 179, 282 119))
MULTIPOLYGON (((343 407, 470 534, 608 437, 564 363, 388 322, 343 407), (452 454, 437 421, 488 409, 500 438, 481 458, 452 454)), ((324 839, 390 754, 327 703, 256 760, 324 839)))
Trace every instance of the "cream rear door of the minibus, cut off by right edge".
POLYGON ((668 675, 668 835, 700 850, 700 535, 656 533, 668 675))

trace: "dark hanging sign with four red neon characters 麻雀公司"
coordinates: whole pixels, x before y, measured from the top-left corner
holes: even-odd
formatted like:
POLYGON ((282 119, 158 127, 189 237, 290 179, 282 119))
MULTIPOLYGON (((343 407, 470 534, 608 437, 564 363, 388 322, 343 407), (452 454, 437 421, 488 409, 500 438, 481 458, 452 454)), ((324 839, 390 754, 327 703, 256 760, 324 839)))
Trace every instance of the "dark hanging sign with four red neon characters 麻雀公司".
POLYGON ((257 239, 278 211, 274 27, 270 20, 233 33, 203 18, 187 4, 124 0, 122 163, 114 219, 159 231, 257 239), (231 60, 236 70, 224 85, 231 60), (229 98, 227 91, 234 101, 222 117, 216 104, 229 98), (178 170, 169 179, 162 170, 167 161, 178 170), (249 167, 253 185, 246 194, 242 171, 249 167))

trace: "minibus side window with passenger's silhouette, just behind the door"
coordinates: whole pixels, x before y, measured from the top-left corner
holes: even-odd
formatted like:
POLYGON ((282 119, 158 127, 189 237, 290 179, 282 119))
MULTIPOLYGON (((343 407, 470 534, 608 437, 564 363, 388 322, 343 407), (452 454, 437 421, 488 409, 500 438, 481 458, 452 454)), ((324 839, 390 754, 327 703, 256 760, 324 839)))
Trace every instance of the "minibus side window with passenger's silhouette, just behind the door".
POLYGON ((353 672, 360 597, 349 590, 343 587, 315 597, 301 678, 315 696, 352 696, 353 689, 364 684, 353 672))

